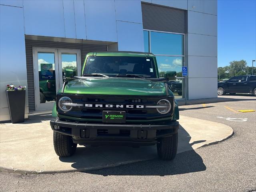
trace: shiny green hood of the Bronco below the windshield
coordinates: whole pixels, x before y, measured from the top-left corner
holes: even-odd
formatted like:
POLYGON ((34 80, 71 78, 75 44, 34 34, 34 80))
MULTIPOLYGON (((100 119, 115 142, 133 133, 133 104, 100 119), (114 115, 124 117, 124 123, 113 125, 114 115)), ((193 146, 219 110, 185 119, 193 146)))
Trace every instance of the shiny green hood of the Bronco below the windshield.
POLYGON ((88 78, 68 82, 66 94, 166 96, 163 82, 141 78, 88 78))

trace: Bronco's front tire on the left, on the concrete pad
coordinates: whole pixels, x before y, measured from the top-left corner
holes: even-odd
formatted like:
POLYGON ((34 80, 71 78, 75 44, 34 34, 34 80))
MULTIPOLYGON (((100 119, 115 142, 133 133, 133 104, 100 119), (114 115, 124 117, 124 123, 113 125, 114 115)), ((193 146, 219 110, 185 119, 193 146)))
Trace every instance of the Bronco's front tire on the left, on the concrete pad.
POLYGON ((77 144, 73 143, 71 136, 53 132, 53 144, 56 154, 60 157, 69 157, 76 151, 77 144))

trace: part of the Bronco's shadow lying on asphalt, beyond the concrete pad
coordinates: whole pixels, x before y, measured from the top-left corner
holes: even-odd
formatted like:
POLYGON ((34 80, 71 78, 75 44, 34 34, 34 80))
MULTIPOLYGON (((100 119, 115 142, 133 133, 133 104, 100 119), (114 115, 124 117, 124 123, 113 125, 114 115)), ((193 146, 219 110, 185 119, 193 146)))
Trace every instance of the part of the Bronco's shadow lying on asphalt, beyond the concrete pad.
POLYGON ((153 159, 117 167, 84 172, 102 176, 168 176, 200 172, 204 170, 206 170, 206 166, 204 165, 200 155, 198 155, 194 150, 190 150, 177 154, 175 159, 172 161, 153 159))

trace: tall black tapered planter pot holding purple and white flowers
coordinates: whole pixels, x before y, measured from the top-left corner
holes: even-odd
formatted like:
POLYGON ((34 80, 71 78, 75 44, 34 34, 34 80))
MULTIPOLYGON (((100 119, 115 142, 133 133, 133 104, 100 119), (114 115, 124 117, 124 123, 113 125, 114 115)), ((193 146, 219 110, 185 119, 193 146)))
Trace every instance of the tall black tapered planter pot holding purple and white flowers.
POLYGON ((6 91, 12 123, 24 122, 26 90, 6 91))

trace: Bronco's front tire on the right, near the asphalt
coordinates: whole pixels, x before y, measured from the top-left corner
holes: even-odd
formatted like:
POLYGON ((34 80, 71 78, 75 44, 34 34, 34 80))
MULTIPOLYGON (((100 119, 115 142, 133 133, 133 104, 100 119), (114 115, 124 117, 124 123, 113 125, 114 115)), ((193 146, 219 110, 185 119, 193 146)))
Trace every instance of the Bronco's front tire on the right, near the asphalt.
POLYGON ((162 160, 173 160, 177 153, 178 133, 158 140, 157 154, 162 160))

